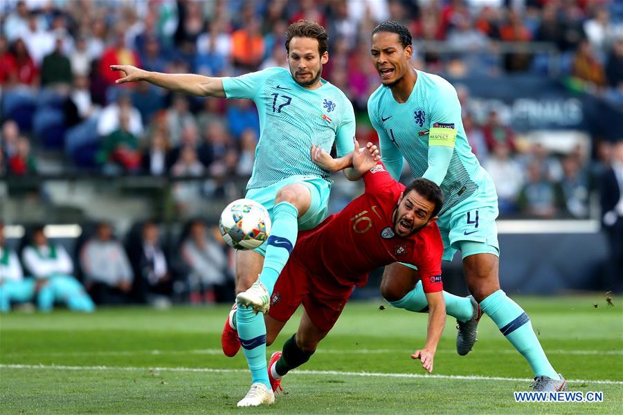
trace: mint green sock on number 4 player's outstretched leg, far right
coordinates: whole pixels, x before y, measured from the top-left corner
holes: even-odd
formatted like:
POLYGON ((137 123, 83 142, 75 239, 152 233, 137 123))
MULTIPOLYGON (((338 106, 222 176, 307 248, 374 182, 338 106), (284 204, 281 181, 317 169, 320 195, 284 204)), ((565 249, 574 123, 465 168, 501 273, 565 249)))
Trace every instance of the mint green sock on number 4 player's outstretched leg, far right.
POLYGON ((534 376, 559 378, 532 330, 530 317, 523 308, 507 297, 504 291, 498 290, 483 299, 480 308, 491 317, 507 340, 530 363, 534 376))

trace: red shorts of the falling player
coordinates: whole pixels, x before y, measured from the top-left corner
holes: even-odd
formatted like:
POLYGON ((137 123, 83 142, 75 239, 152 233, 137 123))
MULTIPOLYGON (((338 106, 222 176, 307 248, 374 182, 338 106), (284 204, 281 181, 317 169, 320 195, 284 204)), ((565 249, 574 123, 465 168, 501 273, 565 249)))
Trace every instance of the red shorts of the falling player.
POLYGON ((318 329, 329 331, 342 313, 354 284, 344 286, 327 275, 312 275, 294 256, 283 268, 271 297, 269 315, 287 322, 303 303, 318 329))

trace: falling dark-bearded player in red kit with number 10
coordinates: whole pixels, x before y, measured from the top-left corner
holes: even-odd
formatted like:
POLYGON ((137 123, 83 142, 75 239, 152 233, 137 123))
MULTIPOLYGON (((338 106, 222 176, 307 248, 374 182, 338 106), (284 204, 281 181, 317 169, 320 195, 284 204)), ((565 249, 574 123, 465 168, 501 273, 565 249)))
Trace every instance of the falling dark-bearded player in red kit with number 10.
MULTIPOLYGON (((428 333, 424 348, 411 357, 422 360, 426 371, 433 371, 433 357, 446 320, 441 278, 443 243, 435 223, 443 194, 426 178, 417 178, 407 187, 398 183, 374 160, 371 151, 360 152, 356 142, 352 154, 353 168, 363 175, 365 192, 316 228, 298 234, 296 247, 273 291, 265 316, 267 344, 275 340, 301 303, 305 307, 297 333, 285 342, 281 352, 271 356, 268 369, 273 390, 280 388, 281 378, 289 370, 309 360, 318 342, 334 326, 354 286, 365 285, 370 271, 396 261, 419 269, 428 299, 428 333)), ((234 333, 226 324, 224 339, 231 339, 229 344, 224 342, 228 356, 240 347, 234 333)))

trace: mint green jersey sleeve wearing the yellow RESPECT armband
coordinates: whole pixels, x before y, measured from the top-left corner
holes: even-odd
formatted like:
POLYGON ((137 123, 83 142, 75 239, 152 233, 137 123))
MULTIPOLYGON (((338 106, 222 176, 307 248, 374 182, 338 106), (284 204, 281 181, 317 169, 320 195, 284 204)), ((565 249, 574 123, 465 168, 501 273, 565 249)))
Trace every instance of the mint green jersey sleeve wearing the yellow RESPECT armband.
POLYGON ((451 84, 440 87, 429 113, 428 168, 422 177, 441 185, 450 166, 461 122, 461 105, 451 84))

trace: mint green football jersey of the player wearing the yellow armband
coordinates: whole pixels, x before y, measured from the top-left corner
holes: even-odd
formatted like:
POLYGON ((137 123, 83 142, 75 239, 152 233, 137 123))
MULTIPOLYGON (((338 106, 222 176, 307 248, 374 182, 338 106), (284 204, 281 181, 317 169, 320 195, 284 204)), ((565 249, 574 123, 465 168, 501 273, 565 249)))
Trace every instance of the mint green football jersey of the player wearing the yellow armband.
POLYGON ((403 157, 416 178, 424 176, 429 165, 429 172, 437 168, 435 158, 429 156, 431 147, 451 151, 449 165, 439 166, 441 183, 426 176, 444 192, 440 215, 474 194, 486 180, 487 174, 469 147, 456 91, 442 77, 417 71, 413 91, 402 104, 394 100, 388 87, 379 86, 368 100, 368 115, 379 133, 381 159, 393 178, 400 176, 403 157))

